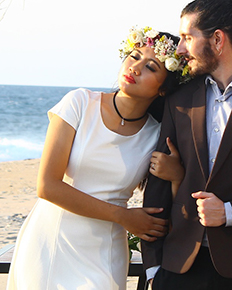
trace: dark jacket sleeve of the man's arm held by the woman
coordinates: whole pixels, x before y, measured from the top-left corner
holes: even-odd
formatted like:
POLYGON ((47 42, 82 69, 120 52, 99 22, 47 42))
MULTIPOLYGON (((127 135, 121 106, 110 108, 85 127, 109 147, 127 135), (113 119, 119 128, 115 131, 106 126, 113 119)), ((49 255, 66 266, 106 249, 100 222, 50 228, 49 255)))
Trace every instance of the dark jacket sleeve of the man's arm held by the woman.
MULTIPOLYGON (((167 98, 165 102, 160 138, 156 151, 167 154, 170 153, 166 144, 167 137, 170 137, 172 143, 178 149, 173 116, 174 113, 171 110, 170 99, 167 98)), ((172 206, 171 183, 149 174, 148 183, 144 192, 143 206, 164 208, 163 212, 155 214, 154 216, 168 219, 170 217, 172 206)), ((145 269, 161 264, 163 242, 164 238, 158 238, 155 242, 141 241, 143 265, 145 269)))

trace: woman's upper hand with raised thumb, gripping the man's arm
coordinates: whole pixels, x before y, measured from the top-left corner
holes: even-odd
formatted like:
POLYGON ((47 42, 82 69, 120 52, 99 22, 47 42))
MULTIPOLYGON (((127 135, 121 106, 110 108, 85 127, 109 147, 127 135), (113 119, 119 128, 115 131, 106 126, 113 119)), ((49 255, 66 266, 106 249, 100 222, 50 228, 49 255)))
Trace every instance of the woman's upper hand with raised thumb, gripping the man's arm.
POLYGON ((170 154, 154 151, 151 157, 150 173, 172 182, 173 197, 184 178, 185 170, 181 165, 180 155, 170 138, 166 139, 170 154))

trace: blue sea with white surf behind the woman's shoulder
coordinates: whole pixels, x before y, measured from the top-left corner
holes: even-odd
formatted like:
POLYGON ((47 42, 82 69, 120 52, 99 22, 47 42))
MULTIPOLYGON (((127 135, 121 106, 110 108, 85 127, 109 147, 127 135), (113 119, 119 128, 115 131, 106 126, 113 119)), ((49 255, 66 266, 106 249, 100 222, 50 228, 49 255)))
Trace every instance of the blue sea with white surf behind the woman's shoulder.
POLYGON ((47 111, 73 89, 77 87, 0 85, 0 162, 40 158, 47 111))

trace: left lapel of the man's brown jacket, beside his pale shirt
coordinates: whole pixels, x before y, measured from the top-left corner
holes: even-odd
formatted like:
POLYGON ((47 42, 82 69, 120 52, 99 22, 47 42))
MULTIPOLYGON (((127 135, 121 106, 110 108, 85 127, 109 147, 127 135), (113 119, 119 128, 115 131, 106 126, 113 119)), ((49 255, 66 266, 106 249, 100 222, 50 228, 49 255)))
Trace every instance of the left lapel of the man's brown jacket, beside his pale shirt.
POLYGON ((201 78, 201 83, 193 94, 192 99, 192 134, 198 162, 205 178, 208 179, 208 146, 206 134, 206 90, 205 78, 201 78))

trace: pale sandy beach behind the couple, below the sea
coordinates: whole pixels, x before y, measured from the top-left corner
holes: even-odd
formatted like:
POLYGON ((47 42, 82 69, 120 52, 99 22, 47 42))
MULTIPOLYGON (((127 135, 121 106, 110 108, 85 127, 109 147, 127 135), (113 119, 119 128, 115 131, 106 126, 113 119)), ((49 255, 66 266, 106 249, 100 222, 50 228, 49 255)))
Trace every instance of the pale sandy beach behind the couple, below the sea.
MULTIPOLYGON (((0 248, 15 243, 18 231, 37 200, 36 178, 39 159, 0 162, 0 248)), ((135 193, 130 206, 140 206, 135 193)), ((7 274, 0 274, 0 290, 6 289, 7 274)), ((128 277, 127 289, 136 289, 136 277, 128 277)))

